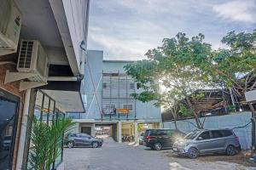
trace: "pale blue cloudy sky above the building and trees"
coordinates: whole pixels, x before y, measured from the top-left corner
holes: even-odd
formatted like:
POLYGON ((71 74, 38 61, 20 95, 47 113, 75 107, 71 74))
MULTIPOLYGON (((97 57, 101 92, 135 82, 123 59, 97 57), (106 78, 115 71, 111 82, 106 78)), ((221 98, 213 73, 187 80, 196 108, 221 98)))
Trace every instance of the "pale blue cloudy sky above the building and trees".
POLYGON ((146 59, 162 39, 202 33, 213 49, 229 31, 256 29, 256 0, 92 0, 88 49, 104 59, 146 59))

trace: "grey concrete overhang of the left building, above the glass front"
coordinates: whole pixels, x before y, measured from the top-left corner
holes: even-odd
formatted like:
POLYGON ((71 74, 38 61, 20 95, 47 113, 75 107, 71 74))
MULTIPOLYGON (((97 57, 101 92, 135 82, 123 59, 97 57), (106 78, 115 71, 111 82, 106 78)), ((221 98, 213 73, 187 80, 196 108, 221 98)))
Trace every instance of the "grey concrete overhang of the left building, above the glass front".
MULTIPOLYGON (((62 0, 15 0, 22 13, 20 38, 38 40, 42 43, 49 58, 49 74, 57 79, 80 75, 80 55, 76 54, 73 48, 79 46, 79 43, 72 41, 63 2, 62 0)), ((86 0, 73 2, 86 2, 86 0)), ((64 111, 84 112, 79 78, 72 82, 49 81, 48 85, 40 89, 55 99, 64 111)))

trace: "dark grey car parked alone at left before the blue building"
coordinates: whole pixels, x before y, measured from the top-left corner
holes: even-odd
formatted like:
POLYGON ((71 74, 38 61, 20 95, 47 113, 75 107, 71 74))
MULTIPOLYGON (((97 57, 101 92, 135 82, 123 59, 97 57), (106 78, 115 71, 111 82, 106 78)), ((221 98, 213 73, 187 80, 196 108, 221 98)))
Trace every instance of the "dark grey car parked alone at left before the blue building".
POLYGON ((99 146, 102 146, 102 143, 102 139, 97 139, 86 133, 69 133, 64 139, 64 144, 66 144, 68 148, 73 148, 76 146, 90 146, 93 148, 97 148, 99 146))

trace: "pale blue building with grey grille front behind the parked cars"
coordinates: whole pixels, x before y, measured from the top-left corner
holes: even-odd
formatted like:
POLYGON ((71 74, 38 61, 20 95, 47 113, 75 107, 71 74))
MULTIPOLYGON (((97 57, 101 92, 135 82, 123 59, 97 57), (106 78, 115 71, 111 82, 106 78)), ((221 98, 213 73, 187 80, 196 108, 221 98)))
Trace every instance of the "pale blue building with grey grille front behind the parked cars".
POLYGON ((133 136, 137 141, 139 129, 159 127, 160 108, 154 102, 143 103, 131 97, 137 93, 137 83, 125 74, 129 60, 103 59, 103 51, 88 50, 84 71, 85 114, 72 114, 77 131, 95 135, 96 126, 112 127, 112 136, 118 142, 122 136, 133 136))

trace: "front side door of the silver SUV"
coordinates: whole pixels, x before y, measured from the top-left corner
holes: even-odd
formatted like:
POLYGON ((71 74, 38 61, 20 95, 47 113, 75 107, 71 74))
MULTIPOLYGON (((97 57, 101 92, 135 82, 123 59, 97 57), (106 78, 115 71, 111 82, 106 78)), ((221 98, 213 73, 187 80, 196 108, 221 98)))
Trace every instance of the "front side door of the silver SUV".
POLYGON ((211 135, 209 131, 202 132, 196 139, 195 145, 200 153, 206 153, 212 149, 211 135))

